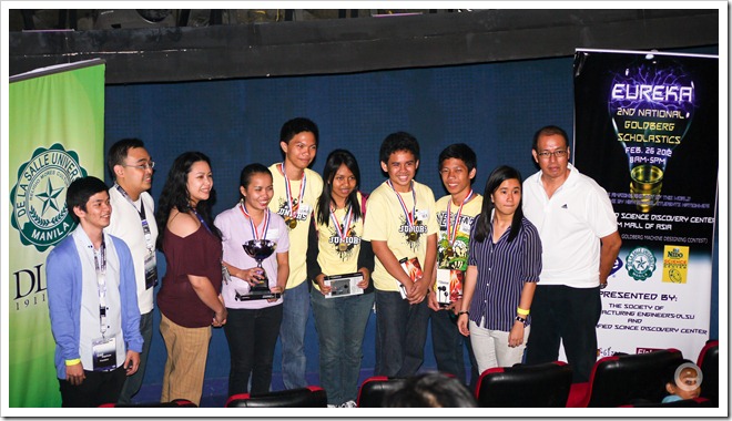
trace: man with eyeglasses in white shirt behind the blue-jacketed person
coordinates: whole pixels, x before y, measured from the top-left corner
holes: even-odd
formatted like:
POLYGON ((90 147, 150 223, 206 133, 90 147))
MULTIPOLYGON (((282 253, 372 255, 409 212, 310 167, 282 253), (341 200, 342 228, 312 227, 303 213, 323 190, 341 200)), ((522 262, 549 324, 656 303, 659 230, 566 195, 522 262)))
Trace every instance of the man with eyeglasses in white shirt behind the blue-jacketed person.
POLYGON ((122 238, 132 253, 141 315, 140 332, 144 340, 140 368, 136 373, 126 378, 118 401, 130 404, 132 397, 142 386, 153 333, 153 287, 157 284, 157 225, 154 202, 148 191, 152 187, 155 163, 141 140, 123 138, 110 147, 106 166, 114 179, 114 185, 109 191, 113 212, 106 232, 122 238))

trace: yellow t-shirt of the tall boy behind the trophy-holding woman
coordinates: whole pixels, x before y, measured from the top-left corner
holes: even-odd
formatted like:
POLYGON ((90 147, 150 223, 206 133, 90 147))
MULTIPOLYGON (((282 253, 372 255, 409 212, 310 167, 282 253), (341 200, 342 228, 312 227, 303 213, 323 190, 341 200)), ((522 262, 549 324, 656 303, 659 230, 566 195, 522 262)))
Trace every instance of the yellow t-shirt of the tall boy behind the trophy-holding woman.
POLYGON ((270 166, 274 186, 274 196, 272 197, 272 202, 270 202, 270 209, 276 212, 287 220, 291 215, 291 206, 297 208, 297 226, 294 229, 289 229, 289 277, 287 278, 287 289, 291 289, 307 279, 307 232, 311 218, 313 217, 313 209, 315 208, 317 198, 323 192, 323 178, 313 170, 305 168, 305 193, 303 194, 303 203, 297 203, 302 179, 291 179, 289 186, 294 204, 288 204, 285 177, 279 172, 279 168, 281 163, 272 164, 270 166))

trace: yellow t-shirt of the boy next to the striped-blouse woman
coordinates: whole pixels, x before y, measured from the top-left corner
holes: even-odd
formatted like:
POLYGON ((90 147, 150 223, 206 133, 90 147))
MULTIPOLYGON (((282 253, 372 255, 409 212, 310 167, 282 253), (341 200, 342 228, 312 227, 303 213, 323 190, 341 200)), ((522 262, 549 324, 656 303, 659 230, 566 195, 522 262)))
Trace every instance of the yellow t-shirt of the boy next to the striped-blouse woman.
MULTIPOLYGON (((437 234, 437 267, 440 269, 468 269, 468 245, 470 243, 470 228, 476 216, 480 215, 482 209, 482 196, 474 194, 470 202, 462 206, 460 213, 460 220, 457 225, 457 234, 453 243, 453 256, 445 256, 445 250, 448 246, 447 238, 447 204, 451 201, 451 196, 447 195, 437 201, 437 225, 439 225, 439 234, 437 234)), ((455 229, 455 218, 459 206, 450 205, 450 229, 455 229)))

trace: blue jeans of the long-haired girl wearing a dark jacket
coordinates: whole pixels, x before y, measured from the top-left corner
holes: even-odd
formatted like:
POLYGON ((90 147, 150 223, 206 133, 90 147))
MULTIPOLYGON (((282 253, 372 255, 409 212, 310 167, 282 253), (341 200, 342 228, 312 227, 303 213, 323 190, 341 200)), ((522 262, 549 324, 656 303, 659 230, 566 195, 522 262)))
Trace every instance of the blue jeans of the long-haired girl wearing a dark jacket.
POLYGON ((321 386, 328 403, 355 401, 358 394, 362 346, 366 322, 374 306, 374 294, 342 298, 325 298, 311 290, 321 351, 321 386))

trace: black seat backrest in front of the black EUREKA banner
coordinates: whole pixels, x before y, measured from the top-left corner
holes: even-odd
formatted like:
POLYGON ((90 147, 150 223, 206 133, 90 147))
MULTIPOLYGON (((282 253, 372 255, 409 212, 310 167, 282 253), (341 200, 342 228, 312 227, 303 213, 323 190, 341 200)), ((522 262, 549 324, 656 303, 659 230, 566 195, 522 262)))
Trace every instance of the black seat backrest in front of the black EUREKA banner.
POLYGON ((636 400, 660 402, 671 364, 681 364, 678 349, 604 357, 592 368, 588 407, 610 408, 636 400))

